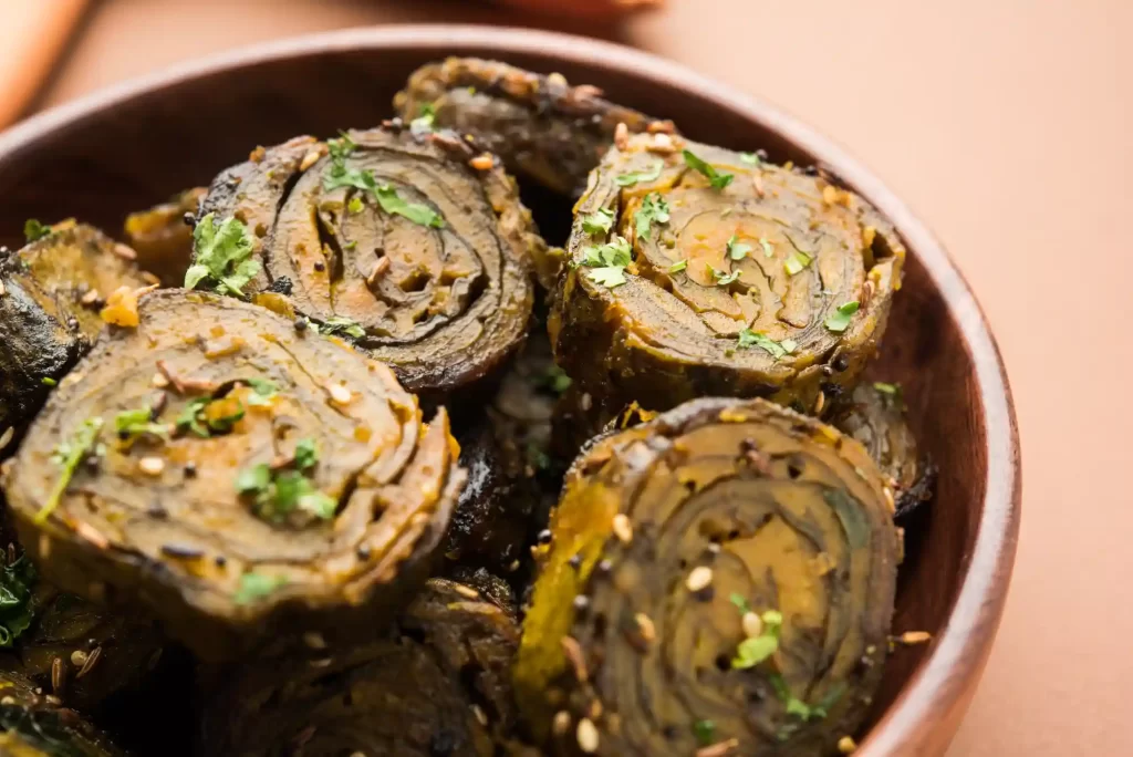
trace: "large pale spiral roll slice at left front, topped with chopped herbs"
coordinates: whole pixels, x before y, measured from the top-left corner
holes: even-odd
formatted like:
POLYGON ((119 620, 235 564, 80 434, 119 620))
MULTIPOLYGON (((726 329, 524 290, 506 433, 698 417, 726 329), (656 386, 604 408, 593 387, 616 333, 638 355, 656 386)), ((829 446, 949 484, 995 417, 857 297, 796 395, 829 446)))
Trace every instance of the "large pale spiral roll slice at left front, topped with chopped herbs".
POLYGON ((33 424, 5 486, 48 578, 140 602, 198 655, 369 630, 424 581, 465 483, 384 365, 233 298, 162 290, 33 424))

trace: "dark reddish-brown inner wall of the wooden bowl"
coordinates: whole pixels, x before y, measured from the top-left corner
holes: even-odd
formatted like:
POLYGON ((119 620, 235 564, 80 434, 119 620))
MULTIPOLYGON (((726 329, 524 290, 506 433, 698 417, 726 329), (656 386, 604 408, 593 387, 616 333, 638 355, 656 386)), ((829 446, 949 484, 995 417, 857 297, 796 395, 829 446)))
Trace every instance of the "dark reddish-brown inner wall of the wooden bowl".
MULTIPOLYGON (((613 100, 672 118, 696 139, 764 147, 776 161, 815 162, 739 110, 597 59, 565 63, 550 52, 500 56, 467 44, 313 49, 165 83, 0 154, 0 240, 18 245, 27 218, 75 216, 117 232, 128 211, 208 182, 257 144, 374 125, 391 114, 390 102, 411 70, 448 54, 502 57, 534 70, 559 70, 572 82, 603 87, 613 100)), ((569 203, 548 211, 544 198, 536 202, 546 227, 561 227, 569 203)), ((948 619, 977 536, 987 478, 986 428, 973 357, 915 254, 872 372, 905 388, 914 428, 940 468, 936 502, 919 513, 908 535, 894 621, 896 631, 935 632, 948 619)), ((871 723, 897 697, 926 649, 898 648, 892 656, 871 723)))

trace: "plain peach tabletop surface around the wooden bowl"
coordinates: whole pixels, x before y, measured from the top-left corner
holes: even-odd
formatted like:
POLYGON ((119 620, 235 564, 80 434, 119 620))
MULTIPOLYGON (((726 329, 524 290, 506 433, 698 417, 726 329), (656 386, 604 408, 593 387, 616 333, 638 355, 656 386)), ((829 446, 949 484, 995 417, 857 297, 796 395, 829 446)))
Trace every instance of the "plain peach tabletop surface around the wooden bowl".
MULTIPOLYGON (((105 0, 36 107, 239 44, 423 20, 522 19, 471 0, 105 0)), ((1130 754, 1133 1, 670 0, 559 28, 776 103, 935 229, 998 337, 1024 475, 1006 615, 949 754, 1130 754)))

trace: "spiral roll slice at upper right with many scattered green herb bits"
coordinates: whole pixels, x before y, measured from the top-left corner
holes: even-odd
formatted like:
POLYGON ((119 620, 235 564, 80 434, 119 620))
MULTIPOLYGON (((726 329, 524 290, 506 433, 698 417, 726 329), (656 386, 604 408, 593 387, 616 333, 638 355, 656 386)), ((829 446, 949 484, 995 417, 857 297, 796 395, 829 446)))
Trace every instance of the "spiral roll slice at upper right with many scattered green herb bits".
POLYGON ((638 135, 576 207, 555 359, 623 405, 768 397, 820 412, 876 351, 904 255, 885 219, 821 176, 638 135))

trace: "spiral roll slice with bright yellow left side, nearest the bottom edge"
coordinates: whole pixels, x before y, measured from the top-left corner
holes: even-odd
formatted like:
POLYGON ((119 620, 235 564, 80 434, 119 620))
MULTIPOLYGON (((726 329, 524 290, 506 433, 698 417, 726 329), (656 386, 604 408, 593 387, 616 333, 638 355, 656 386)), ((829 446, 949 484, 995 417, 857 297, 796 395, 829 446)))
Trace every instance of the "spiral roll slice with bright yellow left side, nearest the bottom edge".
POLYGON ((898 536, 852 440, 705 399, 568 476, 517 696, 554 754, 825 755, 879 681, 898 536))

